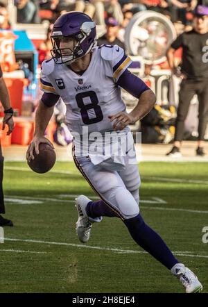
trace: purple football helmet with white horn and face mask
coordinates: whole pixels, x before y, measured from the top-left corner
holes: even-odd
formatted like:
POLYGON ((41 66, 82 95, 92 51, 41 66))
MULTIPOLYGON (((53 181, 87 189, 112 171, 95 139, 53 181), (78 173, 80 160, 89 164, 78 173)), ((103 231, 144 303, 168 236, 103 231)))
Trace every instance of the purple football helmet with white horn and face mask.
POLYGON ((56 64, 71 64, 96 46, 96 24, 86 14, 69 12, 60 16, 53 25, 51 55, 56 64), (73 40, 73 48, 61 48, 61 40, 73 40))

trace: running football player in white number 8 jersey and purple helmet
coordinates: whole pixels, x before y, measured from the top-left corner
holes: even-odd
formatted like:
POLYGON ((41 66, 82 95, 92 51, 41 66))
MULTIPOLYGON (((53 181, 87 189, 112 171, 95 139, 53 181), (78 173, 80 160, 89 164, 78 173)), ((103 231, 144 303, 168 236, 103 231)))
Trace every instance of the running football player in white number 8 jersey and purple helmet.
POLYGON ((67 106, 67 124, 74 137, 73 160, 101 197, 98 201, 84 195, 76 199, 79 240, 89 240, 94 222, 101 222, 103 217, 119 217, 135 242, 171 270, 186 292, 200 292, 202 285, 196 275, 173 256, 139 211, 140 177, 128 124, 137 122, 153 108, 155 94, 130 73, 131 60, 121 47, 96 47, 96 24, 84 13, 71 12, 59 17, 51 40, 52 58, 42 64, 40 81, 44 94, 37 108, 35 134, 26 158, 34 158, 33 149, 39 153, 40 142, 50 144, 44 138, 44 131, 53 106, 61 97, 67 106), (130 113, 121 99, 121 88, 139 99, 130 113), (105 140, 107 133, 112 138, 105 140), (124 143, 127 144, 124 154, 113 155, 109 150, 116 144, 123 153, 124 143))

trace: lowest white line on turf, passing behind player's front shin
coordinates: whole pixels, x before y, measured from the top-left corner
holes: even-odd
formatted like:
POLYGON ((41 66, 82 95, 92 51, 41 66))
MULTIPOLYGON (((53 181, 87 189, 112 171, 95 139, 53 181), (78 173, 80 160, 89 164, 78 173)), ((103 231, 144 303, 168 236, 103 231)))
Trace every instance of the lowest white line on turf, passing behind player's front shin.
MULTIPOLYGON (((19 241, 19 242, 31 242, 31 243, 42 243, 42 244, 53 244, 53 245, 65 245, 65 246, 71 246, 71 247, 80 247, 85 249, 98 249, 101 251, 115 251, 115 252, 121 252, 121 253, 132 253, 132 254, 148 254, 146 251, 133 251, 130 249, 112 249, 110 247, 93 247, 90 245, 84 245, 84 244, 73 244, 73 243, 65 243, 65 242, 51 242, 51 241, 42 241, 42 240, 22 240, 22 239, 12 239, 12 238, 4 238, 4 240, 8 241, 19 241)), ((208 258, 208 256, 203 255, 193 255, 188 254, 189 251, 175 251, 173 254, 178 256, 187 256, 187 257, 199 257, 199 258, 208 258)))

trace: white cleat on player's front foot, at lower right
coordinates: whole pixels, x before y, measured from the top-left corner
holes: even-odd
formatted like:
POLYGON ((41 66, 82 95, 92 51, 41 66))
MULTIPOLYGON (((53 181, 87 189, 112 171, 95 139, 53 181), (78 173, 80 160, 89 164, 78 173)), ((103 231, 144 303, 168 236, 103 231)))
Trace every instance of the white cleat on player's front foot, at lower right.
POLYGON ((175 275, 186 288, 187 293, 202 292, 202 284, 198 281, 197 276, 191 272, 191 269, 185 267, 182 263, 177 263, 172 267, 171 273, 175 275))

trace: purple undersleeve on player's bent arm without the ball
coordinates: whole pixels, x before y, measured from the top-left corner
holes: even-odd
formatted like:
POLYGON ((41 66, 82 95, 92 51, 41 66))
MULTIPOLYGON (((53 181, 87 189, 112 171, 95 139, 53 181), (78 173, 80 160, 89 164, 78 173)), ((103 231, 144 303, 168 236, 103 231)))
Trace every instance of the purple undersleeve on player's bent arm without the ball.
POLYGON ((124 90, 132 94, 132 96, 139 98, 143 92, 150 90, 150 88, 139 77, 132 74, 128 69, 120 76, 116 85, 121 86, 124 90))

